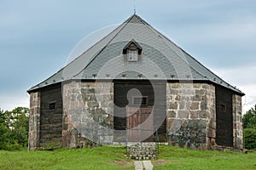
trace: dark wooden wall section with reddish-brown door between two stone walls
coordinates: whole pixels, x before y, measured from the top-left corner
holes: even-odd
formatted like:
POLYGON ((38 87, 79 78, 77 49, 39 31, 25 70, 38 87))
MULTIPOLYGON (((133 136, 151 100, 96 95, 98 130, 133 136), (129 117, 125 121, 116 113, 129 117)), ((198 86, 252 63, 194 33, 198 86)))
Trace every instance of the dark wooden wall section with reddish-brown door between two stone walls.
POLYGON ((166 142, 166 83, 115 81, 113 128, 114 142, 140 141, 156 130, 166 142), (134 88, 140 95, 131 93, 134 88))

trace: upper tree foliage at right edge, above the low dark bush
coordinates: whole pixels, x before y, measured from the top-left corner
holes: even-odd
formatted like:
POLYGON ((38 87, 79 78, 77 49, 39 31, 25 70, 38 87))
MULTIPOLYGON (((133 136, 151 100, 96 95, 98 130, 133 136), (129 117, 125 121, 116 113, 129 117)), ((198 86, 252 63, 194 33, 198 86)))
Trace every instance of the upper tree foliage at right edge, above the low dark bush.
POLYGON ((242 116, 242 127, 256 129, 256 105, 242 116))

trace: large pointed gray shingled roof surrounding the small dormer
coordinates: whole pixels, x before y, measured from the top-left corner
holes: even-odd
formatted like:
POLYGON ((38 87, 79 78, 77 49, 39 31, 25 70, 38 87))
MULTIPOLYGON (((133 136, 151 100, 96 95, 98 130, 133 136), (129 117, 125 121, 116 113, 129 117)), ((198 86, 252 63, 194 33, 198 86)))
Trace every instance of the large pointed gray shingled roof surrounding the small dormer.
POLYGON ((244 95, 224 82, 183 51, 170 39, 149 26, 137 14, 96 42, 78 58, 28 92, 71 79, 149 79, 209 81, 244 95), (136 41, 143 48, 137 62, 128 62, 123 48, 136 41))

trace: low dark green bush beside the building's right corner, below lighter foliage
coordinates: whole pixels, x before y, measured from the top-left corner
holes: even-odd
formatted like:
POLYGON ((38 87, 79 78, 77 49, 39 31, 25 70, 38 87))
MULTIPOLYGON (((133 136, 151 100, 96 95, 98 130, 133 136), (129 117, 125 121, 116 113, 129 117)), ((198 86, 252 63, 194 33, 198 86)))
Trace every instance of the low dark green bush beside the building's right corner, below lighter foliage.
POLYGON ((256 129, 245 128, 243 130, 243 136, 245 140, 245 148, 247 150, 255 150, 256 149, 256 129))

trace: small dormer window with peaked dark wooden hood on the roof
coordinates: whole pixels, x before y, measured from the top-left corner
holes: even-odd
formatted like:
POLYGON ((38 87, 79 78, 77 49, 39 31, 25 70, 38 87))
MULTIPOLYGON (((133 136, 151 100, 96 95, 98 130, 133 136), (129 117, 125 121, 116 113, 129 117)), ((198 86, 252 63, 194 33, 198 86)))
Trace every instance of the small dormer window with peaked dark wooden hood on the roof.
POLYGON ((123 49, 123 54, 126 54, 127 61, 138 61, 139 55, 142 54, 143 48, 141 48, 137 42, 132 40, 123 49))

